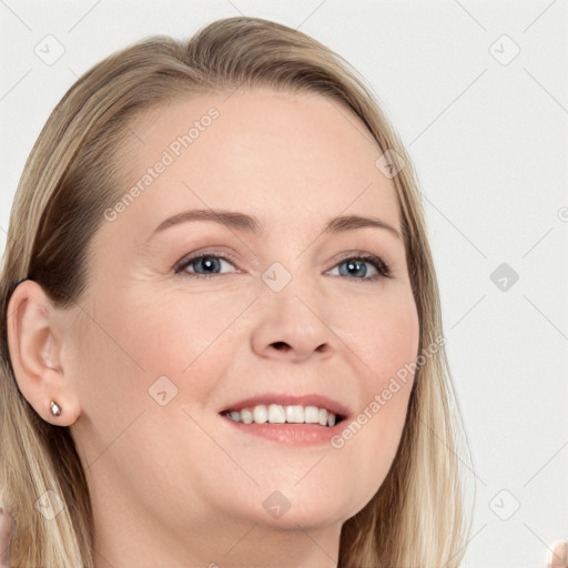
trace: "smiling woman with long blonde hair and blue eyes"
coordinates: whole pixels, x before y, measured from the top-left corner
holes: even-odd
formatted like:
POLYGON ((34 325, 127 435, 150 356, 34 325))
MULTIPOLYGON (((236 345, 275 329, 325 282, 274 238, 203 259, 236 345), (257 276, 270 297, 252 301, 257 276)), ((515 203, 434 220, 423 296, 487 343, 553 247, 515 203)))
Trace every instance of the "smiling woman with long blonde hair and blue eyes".
POLYGON ((85 73, 24 168, 1 294, 13 566, 459 566, 417 183, 315 40, 231 18, 85 73))

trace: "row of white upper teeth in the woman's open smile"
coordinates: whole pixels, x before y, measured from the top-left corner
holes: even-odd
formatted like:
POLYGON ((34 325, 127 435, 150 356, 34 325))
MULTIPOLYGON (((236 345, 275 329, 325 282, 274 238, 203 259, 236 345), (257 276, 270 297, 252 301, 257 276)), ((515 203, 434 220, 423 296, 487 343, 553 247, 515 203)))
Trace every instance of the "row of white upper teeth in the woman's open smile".
POLYGON ((227 414, 235 422, 244 424, 321 424, 322 426, 333 426, 336 416, 325 408, 317 406, 282 406, 280 404, 258 404, 252 408, 233 410, 227 414))

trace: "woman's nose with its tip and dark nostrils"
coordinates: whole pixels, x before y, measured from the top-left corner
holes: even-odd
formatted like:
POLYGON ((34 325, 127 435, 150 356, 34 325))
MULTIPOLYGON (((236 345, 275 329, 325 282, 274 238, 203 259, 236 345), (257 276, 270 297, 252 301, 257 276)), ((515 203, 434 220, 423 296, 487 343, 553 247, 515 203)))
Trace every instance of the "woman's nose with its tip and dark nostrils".
POLYGON ((295 363, 328 358, 336 336, 326 322, 323 301, 313 298, 292 284, 281 292, 265 290, 251 338, 253 351, 261 357, 295 363))

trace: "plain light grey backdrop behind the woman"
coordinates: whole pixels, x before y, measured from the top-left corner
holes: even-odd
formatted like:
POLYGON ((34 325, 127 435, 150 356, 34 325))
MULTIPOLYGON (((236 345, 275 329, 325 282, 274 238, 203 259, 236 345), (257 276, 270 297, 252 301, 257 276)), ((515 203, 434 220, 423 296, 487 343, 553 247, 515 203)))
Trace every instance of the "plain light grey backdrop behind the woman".
POLYGON ((463 566, 545 566, 547 546, 568 539, 566 0, 0 0, 0 250, 24 160, 78 75, 143 36, 240 13, 347 59, 409 150, 475 463, 463 566), (48 34, 65 50, 51 65, 34 52, 57 53, 48 34), (491 281, 501 263, 513 285, 491 281))

